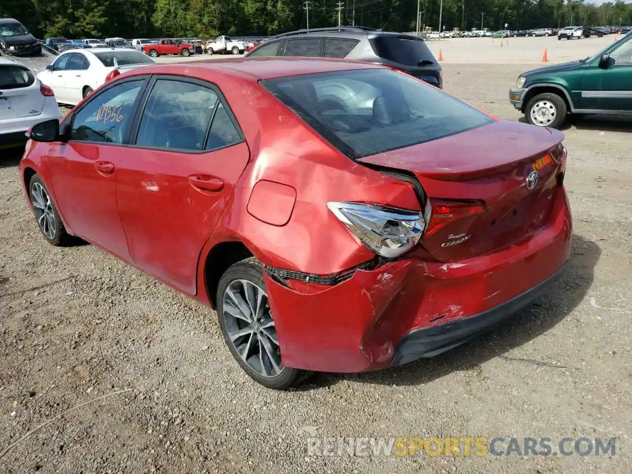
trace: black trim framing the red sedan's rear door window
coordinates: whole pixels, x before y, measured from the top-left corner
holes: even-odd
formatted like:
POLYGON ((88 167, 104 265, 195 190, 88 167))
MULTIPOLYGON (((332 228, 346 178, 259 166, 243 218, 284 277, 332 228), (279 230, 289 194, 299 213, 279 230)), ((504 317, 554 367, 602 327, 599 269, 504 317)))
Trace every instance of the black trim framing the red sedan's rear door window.
POLYGON ((130 130, 128 131, 128 135, 126 135, 126 138, 128 139, 127 140, 128 144, 126 145, 127 147, 141 149, 141 150, 160 150, 160 151, 166 151, 166 152, 175 151, 178 153, 186 153, 186 154, 191 154, 191 155, 202 155, 205 153, 212 153, 218 150, 223 150, 225 148, 234 147, 235 145, 239 145, 240 143, 244 143, 246 141, 245 135, 243 134, 243 131, 241 130, 241 126, 239 125, 239 122, 234 116, 231 107, 228 106, 228 100, 226 100, 226 97, 224 97, 224 94, 222 94, 222 91, 220 90, 220 88, 217 87, 217 85, 212 82, 207 82, 207 81, 192 78, 189 76, 155 74, 151 76, 149 83, 145 87, 145 90, 143 90, 143 93, 139 94, 139 96, 141 96, 140 106, 136 108, 136 112, 130 123, 130 130), (224 110, 226 110, 226 113, 228 114, 228 118, 233 123, 233 126, 235 130, 237 131, 237 134, 240 140, 238 142, 225 145, 224 147, 214 148, 211 150, 205 150, 204 148, 202 150, 191 150, 191 149, 181 149, 181 148, 149 147, 147 145, 137 145, 136 140, 138 138, 138 131, 140 130, 140 119, 142 118, 143 113, 145 112, 145 107, 147 107, 147 102, 149 102, 149 95, 151 94, 152 90, 154 90, 155 83, 158 80, 171 80, 171 81, 176 81, 176 82, 186 82, 186 83, 195 84, 200 87, 210 89, 217 95, 218 102, 216 102, 216 106, 213 109, 211 119, 209 121, 209 125, 204 135, 205 137, 204 147, 206 147, 207 140, 209 139, 210 128, 213 125, 213 119, 215 118, 219 101, 222 102, 222 105, 224 106, 224 110))

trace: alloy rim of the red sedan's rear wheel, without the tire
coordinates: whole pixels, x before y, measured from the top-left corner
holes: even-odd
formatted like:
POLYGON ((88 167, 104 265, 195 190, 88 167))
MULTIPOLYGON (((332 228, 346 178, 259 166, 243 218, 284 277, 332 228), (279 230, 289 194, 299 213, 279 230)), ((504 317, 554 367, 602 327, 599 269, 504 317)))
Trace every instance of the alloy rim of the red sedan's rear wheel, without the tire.
POLYGON ((258 375, 281 374, 281 351, 265 291, 250 281, 232 281, 222 296, 224 322, 231 344, 258 375))

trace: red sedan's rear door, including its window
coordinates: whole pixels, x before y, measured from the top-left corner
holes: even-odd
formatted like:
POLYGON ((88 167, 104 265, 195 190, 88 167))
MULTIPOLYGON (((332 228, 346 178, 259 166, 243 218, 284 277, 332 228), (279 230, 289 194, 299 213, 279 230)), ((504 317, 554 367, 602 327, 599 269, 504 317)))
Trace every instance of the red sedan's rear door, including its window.
POLYGON ((250 157, 238 130, 216 87, 159 76, 119 167, 119 213, 135 265, 190 295, 202 247, 250 157))

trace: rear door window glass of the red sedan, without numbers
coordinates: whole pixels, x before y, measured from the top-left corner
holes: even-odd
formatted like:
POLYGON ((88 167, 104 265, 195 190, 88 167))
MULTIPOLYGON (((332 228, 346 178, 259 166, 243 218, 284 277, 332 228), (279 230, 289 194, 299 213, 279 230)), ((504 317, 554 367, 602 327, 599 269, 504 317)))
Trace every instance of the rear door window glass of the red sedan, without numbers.
POLYGON ((136 145, 202 151, 238 142, 241 138, 212 88, 170 79, 156 81, 140 119, 136 145))

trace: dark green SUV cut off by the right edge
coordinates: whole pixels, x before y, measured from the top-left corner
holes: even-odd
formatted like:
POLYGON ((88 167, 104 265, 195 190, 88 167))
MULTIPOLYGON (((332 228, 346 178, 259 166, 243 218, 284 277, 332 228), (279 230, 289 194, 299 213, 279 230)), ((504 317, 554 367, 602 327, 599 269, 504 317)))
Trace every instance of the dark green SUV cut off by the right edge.
POLYGON ((509 102, 528 123, 551 128, 568 114, 632 114, 632 32, 595 56, 523 73, 509 102))

